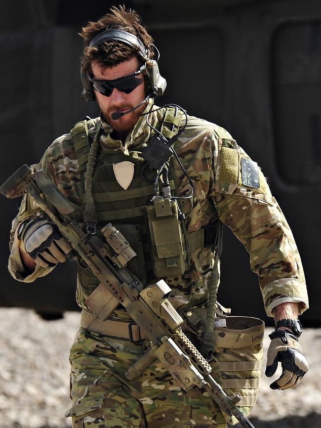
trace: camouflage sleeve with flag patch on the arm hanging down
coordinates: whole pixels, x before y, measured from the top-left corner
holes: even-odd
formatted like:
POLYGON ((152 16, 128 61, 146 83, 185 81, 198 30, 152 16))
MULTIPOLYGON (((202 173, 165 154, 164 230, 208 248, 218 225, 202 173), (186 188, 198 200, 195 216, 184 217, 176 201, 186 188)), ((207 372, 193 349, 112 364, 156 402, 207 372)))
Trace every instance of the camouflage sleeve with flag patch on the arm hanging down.
POLYGON ((218 217, 243 243, 259 277, 266 312, 298 302, 308 308, 301 259, 281 209, 255 162, 232 138, 213 133, 210 194, 218 217))

